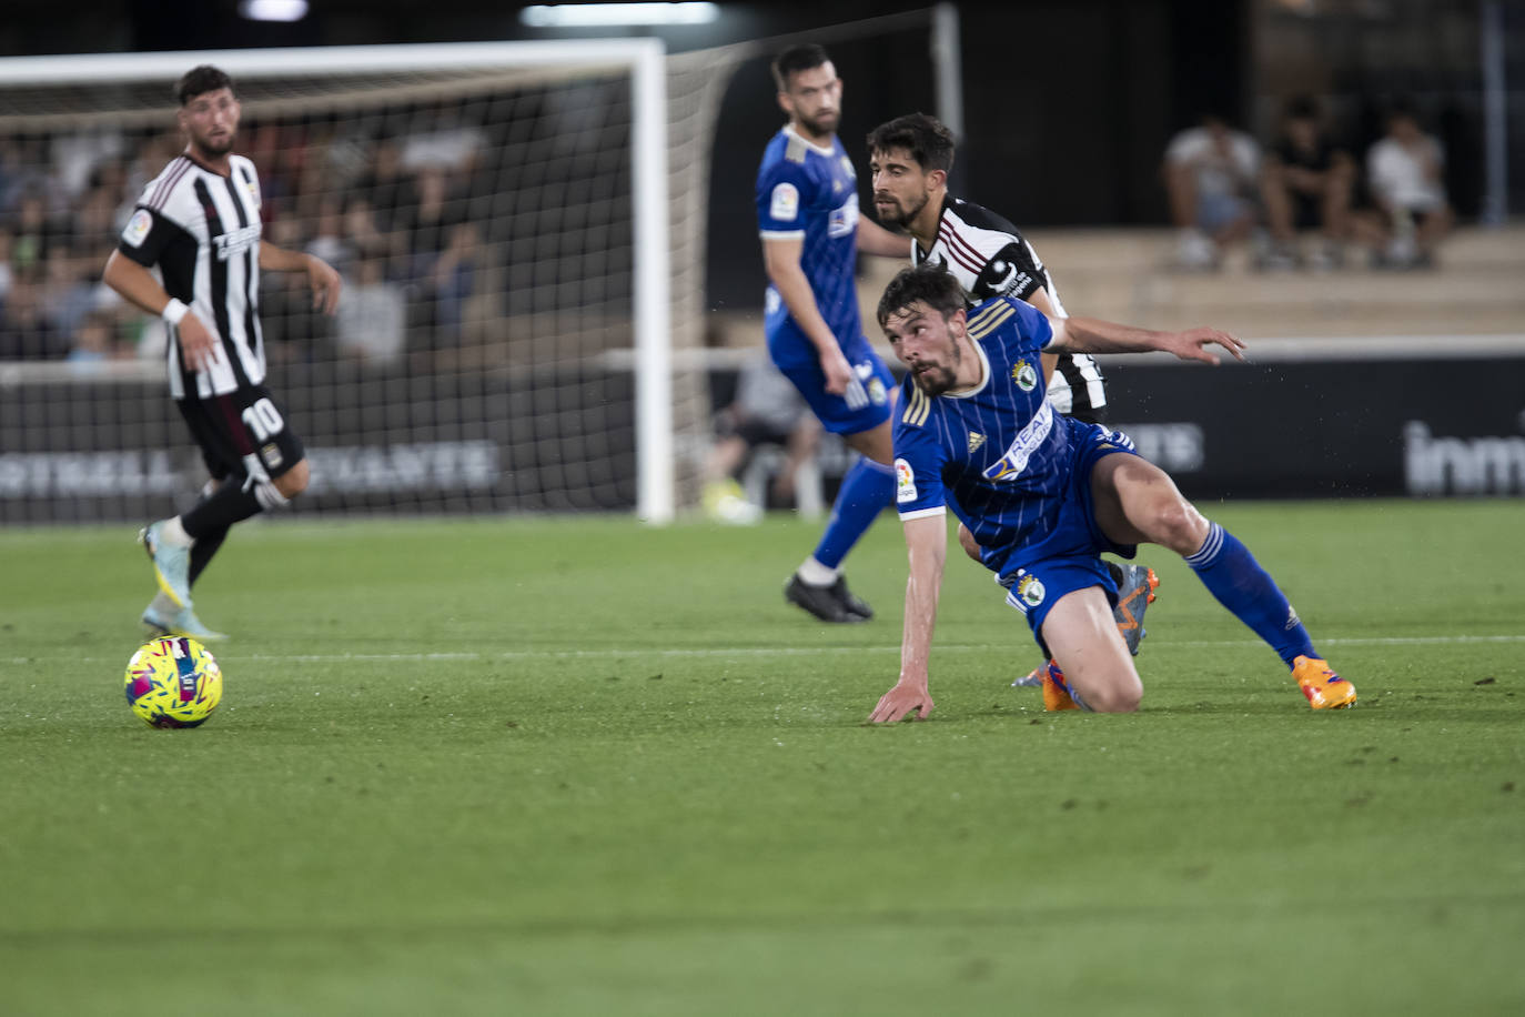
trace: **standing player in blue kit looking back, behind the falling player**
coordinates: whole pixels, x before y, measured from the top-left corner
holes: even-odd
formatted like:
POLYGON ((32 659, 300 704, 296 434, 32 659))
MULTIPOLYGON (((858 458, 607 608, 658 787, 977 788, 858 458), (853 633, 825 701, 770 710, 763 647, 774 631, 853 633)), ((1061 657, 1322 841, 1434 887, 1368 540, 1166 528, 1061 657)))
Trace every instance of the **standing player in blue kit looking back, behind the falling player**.
POLYGON ((854 274, 860 249, 909 258, 910 241, 859 218, 857 174, 837 140, 842 81, 827 52, 784 50, 773 79, 788 124, 762 152, 756 183, 769 354, 822 425, 862 453, 784 598, 820 621, 862 622, 874 611, 848 590, 842 560, 894 500, 894 377, 863 335, 854 274))

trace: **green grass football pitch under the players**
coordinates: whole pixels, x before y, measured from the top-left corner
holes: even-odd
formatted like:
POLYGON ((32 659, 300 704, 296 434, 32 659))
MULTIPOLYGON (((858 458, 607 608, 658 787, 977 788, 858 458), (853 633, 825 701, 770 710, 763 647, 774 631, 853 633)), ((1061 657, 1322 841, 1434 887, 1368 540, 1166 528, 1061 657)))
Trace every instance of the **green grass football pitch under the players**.
MULTIPOLYGON (((1520 1014, 1519 502, 1203 506, 1360 703, 1315 714, 1159 549, 1144 711, 1045 715, 950 558, 926 723, 817 526, 235 532, 223 706, 122 698, 131 528, 0 532, 0 1012, 1520 1014)), ((955 549, 956 555, 956 549, 955 549)))

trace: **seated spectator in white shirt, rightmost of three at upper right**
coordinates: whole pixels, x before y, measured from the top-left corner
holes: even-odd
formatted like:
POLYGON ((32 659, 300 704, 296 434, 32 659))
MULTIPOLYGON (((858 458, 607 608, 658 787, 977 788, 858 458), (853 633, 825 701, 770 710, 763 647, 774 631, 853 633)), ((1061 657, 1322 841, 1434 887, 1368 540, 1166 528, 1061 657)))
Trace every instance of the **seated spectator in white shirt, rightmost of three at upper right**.
POLYGON ((1420 128, 1414 105, 1394 104, 1386 136, 1366 152, 1366 180, 1377 207, 1377 264, 1434 267, 1435 249, 1456 221, 1446 198, 1444 165, 1440 142, 1420 128))

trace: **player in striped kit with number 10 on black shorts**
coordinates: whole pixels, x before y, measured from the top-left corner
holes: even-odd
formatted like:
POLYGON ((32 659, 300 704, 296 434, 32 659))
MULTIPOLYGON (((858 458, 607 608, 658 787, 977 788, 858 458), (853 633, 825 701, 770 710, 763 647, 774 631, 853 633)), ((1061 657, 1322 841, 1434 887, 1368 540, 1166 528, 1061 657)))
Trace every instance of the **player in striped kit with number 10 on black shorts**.
POLYGON ((287 505, 308 480, 302 441, 264 384, 259 271, 305 271, 313 305, 328 314, 339 306, 340 278, 319 258, 262 239, 259 175, 232 154, 241 113, 232 79, 203 64, 186 72, 175 96, 186 149, 143 189, 105 282, 165 319, 169 395, 212 474, 191 511, 139 535, 159 584, 143 624, 218 639, 197 618, 191 585, 233 523, 287 505))

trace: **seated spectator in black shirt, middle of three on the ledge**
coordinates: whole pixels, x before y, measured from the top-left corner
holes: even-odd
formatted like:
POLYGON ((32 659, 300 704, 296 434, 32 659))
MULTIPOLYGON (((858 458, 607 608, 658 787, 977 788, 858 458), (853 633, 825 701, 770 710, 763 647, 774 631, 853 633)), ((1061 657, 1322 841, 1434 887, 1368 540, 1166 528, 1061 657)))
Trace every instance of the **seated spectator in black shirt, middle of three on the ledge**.
POLYGON ((1350 236, 1354 183, 1356 162, 1325 133, 1318 104, 1307 96, 1287 102, 1283 134, 1266 152, 1261 171, 1261 200, 1272 236, 1266 267, 1339 265, 1350 236), (1299 230, 1319 230, 1321 242, 1307 256, 1298 245, 1299 230))

